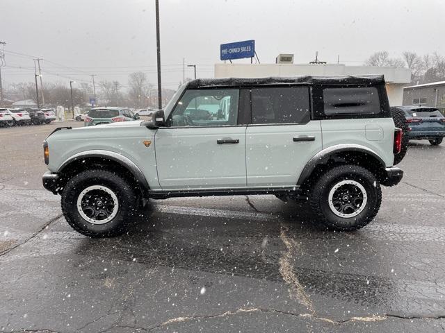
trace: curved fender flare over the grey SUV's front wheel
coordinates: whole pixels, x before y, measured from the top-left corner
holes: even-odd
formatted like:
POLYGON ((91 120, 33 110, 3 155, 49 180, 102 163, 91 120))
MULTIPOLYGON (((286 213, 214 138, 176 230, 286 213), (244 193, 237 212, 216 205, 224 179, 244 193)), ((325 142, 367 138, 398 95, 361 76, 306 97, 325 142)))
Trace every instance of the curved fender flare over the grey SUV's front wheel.
POLYGON ((120 165, 122 165, 122 167, 128 169, 133 174, 134 178, 136 178, 136 180, 140 183, 140 185, 145 187, 145 189, 149 189, 147 178, 145 178, 144 173, 139 169, 136 163, 134 163, 128 157, 119 153, 115 153, 114 151, 104 151, 97 149, 97 150, 82 151, 81 153, 76 153, 67 160, 65 160, 65 162, 63 162, 60 165, 57 172, 58 173, 63 172, 63 169, 72 162, 88 157, 102 157, 108 160, 113 160, 115 162, 118 162, 120 165))

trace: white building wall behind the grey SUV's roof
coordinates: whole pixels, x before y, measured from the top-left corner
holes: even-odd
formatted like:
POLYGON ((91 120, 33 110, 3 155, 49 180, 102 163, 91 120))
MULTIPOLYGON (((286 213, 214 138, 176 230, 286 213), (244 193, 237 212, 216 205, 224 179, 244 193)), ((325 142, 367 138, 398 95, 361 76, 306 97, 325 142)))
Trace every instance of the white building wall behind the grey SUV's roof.
POLYGON ((215 78, 261 78, 264 76, 339 76, 383 74, 390 105, 402 105, 403 87, 410 84, 407 68, 346 66, 343 64, 216 64, 215 78))

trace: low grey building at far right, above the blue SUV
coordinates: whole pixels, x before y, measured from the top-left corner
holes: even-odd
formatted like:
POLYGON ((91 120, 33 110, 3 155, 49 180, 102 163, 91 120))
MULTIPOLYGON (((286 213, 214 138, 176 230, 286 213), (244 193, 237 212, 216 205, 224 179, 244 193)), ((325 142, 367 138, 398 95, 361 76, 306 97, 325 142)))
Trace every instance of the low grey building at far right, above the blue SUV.
POLYGON ((403 105, 422 105, 445 112, 445 81, 403 88, 403 105))

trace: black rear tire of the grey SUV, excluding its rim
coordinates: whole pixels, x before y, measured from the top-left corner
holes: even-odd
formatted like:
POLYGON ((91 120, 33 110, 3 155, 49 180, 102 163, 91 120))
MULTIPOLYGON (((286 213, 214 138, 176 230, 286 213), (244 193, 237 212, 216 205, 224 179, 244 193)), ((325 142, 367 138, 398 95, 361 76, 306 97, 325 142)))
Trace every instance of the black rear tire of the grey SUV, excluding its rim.
POLYGON ((380 209, 382 190, 371 171, 353 164, 334 167, 324 173, 309 191, 309 205, 316 220, 330 230, 353 231, 371 222, 380 209), (366 190, 367 202, 359 214, 344 218, 332 212, 328 198, 330 190, 342 180, 355 180, 366 190))

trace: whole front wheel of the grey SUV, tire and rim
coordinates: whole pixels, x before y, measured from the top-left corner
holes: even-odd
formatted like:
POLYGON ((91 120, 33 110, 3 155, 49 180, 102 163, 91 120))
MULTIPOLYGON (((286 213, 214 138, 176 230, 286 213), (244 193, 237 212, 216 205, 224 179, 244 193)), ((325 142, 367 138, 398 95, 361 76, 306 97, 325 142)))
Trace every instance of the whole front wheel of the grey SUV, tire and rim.
POLYGON ((137 208, 137 196, 129 182, 104 170, 83 171, 71 178, 61 201, 67 222, 88 237, 123 234, 137 208))

